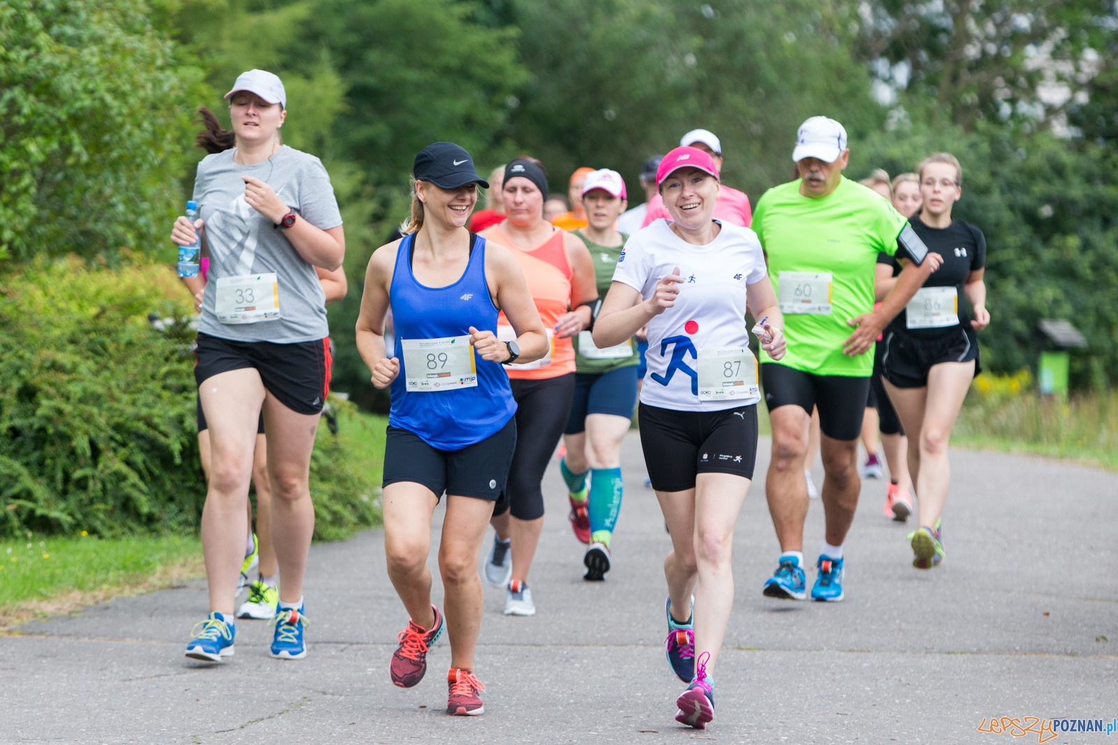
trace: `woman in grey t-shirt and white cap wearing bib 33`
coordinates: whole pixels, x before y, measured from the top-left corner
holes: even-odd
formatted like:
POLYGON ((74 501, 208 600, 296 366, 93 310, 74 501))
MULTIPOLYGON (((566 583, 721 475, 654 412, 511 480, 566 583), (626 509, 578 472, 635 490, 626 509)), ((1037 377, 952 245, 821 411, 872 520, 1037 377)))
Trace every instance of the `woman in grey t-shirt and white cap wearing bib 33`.
POLYGON ((272 656, 297 659, 306 655, 303 572, 314 531, 307 479, 331 362, 314 268, 341 266, 345 238, 321 161, 281 144, 287 112, 280 78, 249 70, 225 97, 234 147, 198 165, 193 198, 201 218, 193 225, 179 218, 171 233, 189 246, 200 232, 210 259, 195 367, 210 431, 201 525, 210 613, 187 656, 218 661, 233 653, 245 505, 263 410, 281 575, 272 656))

